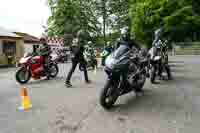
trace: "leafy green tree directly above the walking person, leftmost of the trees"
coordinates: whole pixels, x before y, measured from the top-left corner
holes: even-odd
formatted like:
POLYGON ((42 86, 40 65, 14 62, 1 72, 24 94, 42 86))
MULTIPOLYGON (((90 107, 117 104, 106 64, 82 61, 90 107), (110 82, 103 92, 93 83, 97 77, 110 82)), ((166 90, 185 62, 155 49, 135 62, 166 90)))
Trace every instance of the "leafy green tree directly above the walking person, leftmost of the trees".
POLYGON ((48 0, 52 16, 48 20, 48 35, 64 37, 70 45, 80 29, 97 34, 99 23, 89 0, 48 0))

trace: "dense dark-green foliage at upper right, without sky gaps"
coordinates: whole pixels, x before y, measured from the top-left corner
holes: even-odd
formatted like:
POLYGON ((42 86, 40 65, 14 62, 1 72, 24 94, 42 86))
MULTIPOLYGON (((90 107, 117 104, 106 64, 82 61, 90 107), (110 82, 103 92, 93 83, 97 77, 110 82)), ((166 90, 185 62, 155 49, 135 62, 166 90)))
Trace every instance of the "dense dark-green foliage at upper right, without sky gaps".
POLYGON ((131 0, 129 15, 133 35, 147 45, 159 27, 174 41, 195 40, 194 33, 199 35, 200 17, 194 13, 192 0, 131 0))

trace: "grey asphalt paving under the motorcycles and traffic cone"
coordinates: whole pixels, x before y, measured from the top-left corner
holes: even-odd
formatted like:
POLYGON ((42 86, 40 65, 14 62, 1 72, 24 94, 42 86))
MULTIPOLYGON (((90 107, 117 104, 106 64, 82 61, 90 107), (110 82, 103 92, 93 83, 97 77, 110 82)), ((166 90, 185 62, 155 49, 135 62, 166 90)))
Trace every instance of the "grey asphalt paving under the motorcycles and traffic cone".
POLYGON ((78 70, 72 88, 64 85, 70 64, 57 78, 19 85, 15 68, 0 69, 0 133, 197 133, 200 130, 200 56, 170 57, 172 81, 152 85, 145 95, 120 97, 110 111, 99 105, 106 74, 89 72, 85 84, 78 70), (20 88, 27 87, 29 111, 18 111, 20 88))

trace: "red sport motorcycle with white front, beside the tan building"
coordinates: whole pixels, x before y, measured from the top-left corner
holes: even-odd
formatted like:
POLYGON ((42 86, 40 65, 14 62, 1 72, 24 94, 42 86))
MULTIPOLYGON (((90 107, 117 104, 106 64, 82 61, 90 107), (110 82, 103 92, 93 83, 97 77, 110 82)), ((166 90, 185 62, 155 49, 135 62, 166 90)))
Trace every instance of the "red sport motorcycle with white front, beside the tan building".
MULTIPOLYGON (((50 57, 51 58, 51 57, 50 57)), ((27 55, 20 59, 20 68, 16 72, 16 80, 21 84, 27 83, 31 78, 38 80, 41 77, 46 76, 45 69, 43 67, 43 56, 31 56, 27 55)), ((56 61, 49 59, 49 76, 55 78, 58 74, 58 65, 56 61)))

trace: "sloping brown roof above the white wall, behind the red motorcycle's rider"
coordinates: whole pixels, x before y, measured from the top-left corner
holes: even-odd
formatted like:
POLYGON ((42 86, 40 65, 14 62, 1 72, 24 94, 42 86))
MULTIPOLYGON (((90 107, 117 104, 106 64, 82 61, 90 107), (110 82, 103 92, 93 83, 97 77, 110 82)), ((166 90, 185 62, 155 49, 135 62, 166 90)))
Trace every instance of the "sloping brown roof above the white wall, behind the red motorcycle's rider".
POLYGON ((23 37, 25 43, 40 43, 40 39, 35 36, 29 35, 27 33, 22 33, 22 32, 14 32, 14 33, 23 37))

